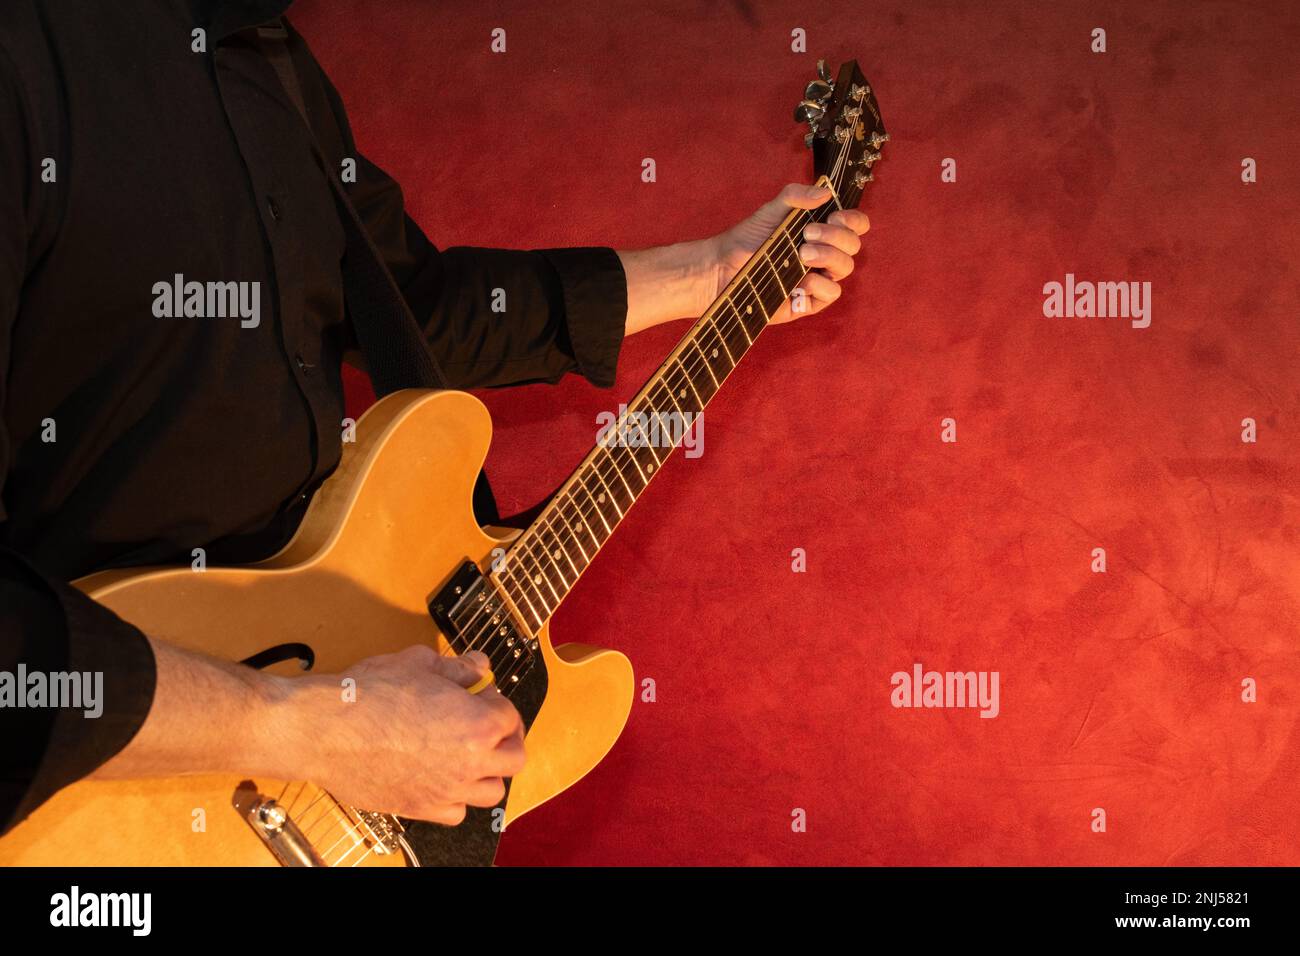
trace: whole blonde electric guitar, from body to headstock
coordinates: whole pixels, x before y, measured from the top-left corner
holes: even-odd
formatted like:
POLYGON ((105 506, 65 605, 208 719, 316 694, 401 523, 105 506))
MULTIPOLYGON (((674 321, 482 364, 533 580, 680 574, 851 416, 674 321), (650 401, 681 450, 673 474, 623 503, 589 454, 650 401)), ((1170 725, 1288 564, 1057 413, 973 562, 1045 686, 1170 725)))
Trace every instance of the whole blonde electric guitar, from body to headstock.
POLYGON ((554 645, 549 620, 672 453, 637 432, 656 416, 693 421, 703 410, 806 274, 803 228, 858 204, 889 138, 857 62, 833 81, 819 62, 818 74, 796 118, 810 125, 816 182, 833 196, 772 230, 526 529, 473 519, 488 410, 463 392, 407 390, 361 418, 274 557, 77 581, 152 636, 276 674, 346 676, 363 658, 412 644, 481 650, 528 728, 526 769, 500 805, 469 808, 447 827, 359 810, 306 782, 82 780, 0 840, 0 865, 490 864, 506 825, 590 771, 627 722, 632 665, 614 650, 554 645))

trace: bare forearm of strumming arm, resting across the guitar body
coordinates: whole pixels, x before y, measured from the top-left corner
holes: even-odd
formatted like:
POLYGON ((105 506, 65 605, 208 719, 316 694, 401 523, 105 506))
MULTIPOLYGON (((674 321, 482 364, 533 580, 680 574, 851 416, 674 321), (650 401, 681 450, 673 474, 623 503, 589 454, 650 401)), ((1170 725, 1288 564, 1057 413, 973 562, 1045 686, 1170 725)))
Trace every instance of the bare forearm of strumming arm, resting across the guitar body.
POLYGON ((290 680, 150 640, 157 683, 148 717, 92 779, 239 773, 281 777, 300 741, 283 721, 290 680))

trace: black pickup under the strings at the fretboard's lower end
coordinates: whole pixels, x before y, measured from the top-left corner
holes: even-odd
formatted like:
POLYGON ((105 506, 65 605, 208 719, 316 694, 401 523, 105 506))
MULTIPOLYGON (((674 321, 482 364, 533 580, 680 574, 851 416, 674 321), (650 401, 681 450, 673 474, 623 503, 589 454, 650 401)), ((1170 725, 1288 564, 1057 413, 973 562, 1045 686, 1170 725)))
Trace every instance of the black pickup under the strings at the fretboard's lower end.
POLYGON ((497 688, 510 695, 537 662, 537 639, 524 631, 478 566, 465 561, 429 600, 434 619, 458 654, 488 656, 497 688))

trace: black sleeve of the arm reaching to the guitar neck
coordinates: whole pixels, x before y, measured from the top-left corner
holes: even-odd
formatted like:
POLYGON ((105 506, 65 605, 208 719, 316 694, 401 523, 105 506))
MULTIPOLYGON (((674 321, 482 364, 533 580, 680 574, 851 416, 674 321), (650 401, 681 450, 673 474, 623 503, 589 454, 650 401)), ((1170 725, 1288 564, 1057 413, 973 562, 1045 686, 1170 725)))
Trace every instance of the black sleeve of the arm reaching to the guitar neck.
POLYGON ((316 79, 304 78, 312 125, 324 148, 341 153, 335 159, 356 160, 356 182, 344 181, 344 189, 451 384, 554 382, 576 371, 594 385, 614 385, 628 315, 618 254, 606 247, 434 247, 407 215, 400 186, 359 153, 338 91, 302 38, 290 34, 300 44, 298 62, 309 64, 316 79), (312 109, 311 87, 326 109, 312 109), (322 131, 325 125, 337 135, 322 131))

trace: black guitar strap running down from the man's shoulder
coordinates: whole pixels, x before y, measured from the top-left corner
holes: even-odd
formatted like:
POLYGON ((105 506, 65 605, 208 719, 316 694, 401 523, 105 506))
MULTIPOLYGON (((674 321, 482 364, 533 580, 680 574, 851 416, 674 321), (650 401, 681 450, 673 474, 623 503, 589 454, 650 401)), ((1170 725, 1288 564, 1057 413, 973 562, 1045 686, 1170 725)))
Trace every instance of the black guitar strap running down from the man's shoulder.
MULTIPOLYGON (((338 217, 346 237, 342 261, 343 298, 358 345, 369 367, 374 394, 382 398, 399 389, 451 388, 429 351, 424 332, 411 313, 396 280, 384 264, 384 258, 365 232, 356 207, 347 198, 343 183, 332 170, 332 164, 316 139, 298 82, 298 72, 289 53, 287 39, 289 31, 278 18, 257 27, 257 46, 280 77, 285 94, 296 107, 307 127, 316 161, 334 194, 334 204, 338 207, 338 217)), ((482 471, 474 483, 473 507, 480 524, 490 524, 500 518, 488 476, 482 471)))

